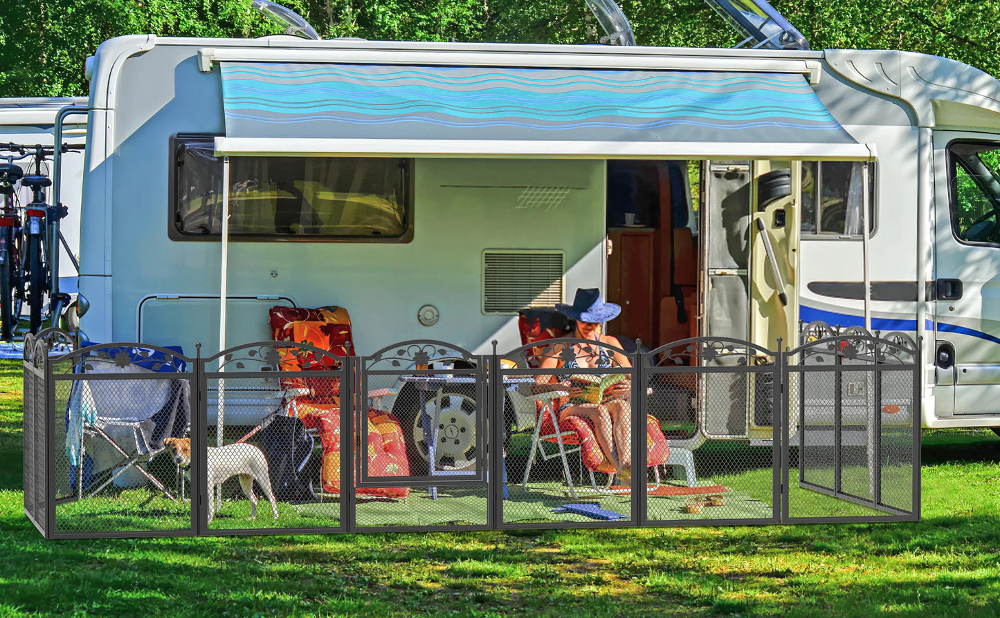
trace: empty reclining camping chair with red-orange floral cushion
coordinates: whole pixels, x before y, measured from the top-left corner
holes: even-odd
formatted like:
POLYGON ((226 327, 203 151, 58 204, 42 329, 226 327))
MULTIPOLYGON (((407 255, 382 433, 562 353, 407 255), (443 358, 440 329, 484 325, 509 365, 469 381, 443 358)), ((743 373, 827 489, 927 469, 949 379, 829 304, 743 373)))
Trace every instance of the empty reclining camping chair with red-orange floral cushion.
MULTIPOLYGON (((354 355, 351 318, 346 309, 325 307, 270 309, 272 338, 276 341, 308 342, 331 353, 354 355)), ((339 361, 324 356, 322 360, 303 354, 299 359, 283 359, 284 370, 339 368, 339 361), (306 364, 306 360, 312 360, 306 364)), ((286 397, 283 409, 289 416, 302 419, 307 430, 319 437, 322 448, 319 491, 309 481, 314 497, 332 497, 340 493, 340 379, 338 377, 281 378, 286 397)), ((409 476, 406 443, 399 420, 381 407, 381 397, 393 394, 385 389, 368 393, 375 407, 368 408, 368 467, 373 475, 409 476)), ((408 487, 356 489, 359 494, 376 497, 407 498, 408 487)))

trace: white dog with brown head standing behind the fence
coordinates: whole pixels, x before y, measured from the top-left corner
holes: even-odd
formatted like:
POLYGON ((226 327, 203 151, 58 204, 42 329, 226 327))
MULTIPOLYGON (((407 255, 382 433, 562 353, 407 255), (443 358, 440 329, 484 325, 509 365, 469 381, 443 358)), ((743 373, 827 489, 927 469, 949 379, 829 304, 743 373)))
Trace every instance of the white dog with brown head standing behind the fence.
MULTIPOLYGON (((191 439, 168 437, 163 440, 177 465, 191 465, 191 439)), ((206 456, 208 467, 208 523, 215 517, 215 488, 230 477, 239 475, 243 493, 250 499, 250 519, 257 518, 257 496, 253 492, 253 481, 264 489, 264 495, 271 501, 271 511, 278 518, 278 503, 271 490, 271 476, 268 472, 264 453, 253 444, 237 442, 225 446, 209 446, 206 456)), ((221 501, 221 500, 220 500, 221 501)))

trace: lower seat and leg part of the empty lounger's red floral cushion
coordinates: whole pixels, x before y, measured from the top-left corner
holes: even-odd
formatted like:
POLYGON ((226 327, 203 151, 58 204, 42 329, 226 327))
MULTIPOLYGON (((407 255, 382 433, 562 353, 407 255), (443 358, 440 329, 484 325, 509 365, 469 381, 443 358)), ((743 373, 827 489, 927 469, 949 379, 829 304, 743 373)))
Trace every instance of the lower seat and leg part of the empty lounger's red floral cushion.
MULTIPOLYGON (((323 466, 320 481, 323 491, 340 493, 340 408, 312 404, 298 397, 294 411, 307 428, 319 429, 323 445, 323 466)), ((371 477, 409 476, 406 444, 399 420, 389 412, 368 410, 368 475, 371 477)), ((358 494, 389 498, 405 498, 409 487, 365 487, 358 494)))

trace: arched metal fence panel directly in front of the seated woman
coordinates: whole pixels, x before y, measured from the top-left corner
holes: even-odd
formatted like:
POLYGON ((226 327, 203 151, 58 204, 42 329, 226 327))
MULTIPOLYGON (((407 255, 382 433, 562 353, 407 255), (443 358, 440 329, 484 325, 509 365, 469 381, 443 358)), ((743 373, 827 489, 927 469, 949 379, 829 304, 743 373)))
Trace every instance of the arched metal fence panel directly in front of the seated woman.
POLYGON ((635 448, 645 397, 636 359, 573 338, 497 359, 506 478, 498 527, 636 525, 632 488, 646 477, 646 451, 635 448))

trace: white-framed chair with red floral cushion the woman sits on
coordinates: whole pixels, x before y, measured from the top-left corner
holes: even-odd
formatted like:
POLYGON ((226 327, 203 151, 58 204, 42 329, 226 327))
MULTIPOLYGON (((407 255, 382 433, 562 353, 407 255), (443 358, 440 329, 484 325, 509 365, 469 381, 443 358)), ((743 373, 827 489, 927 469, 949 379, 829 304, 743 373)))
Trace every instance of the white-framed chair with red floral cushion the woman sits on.
MULTIPOLYGON (((569 324, 566 322, 566 318, 556 312, 555 309, 525 309, 521 311, 518 317, 518 325, 521 332, 521 342, 523 345, 527 345, 536 341, 540 342, 549 338, 565 336, 568 332, 569 324)), ((538 351, 541 347, 538 346, 532 351, 538 351)), ((629 489, 615 489, 612 487, 616 470, 597 443, 593 423, 589 419, 579 416, 569 416, 562 421, 558 419, 552 405, 552 399, 565 394, 562 391, 554 391, 535 395, 537 418, 534 423, 534 431, 532 432, 531 450, 521 483, 522 488, 525 490, 528 489, 531 468, 536 456, 540 457, 543 461, 560 457, 570 495, 576 498, 577 488, 573 484, 567 455, 579 452, 581 464, 587 468, 590 475, 591 486, 589 490, 601 493, 629 491, 629 489), (556 444, 557 449, 553 451, 546 450, 546 443, 556 444), (594 475, 595 472, 607 474, 607 483, 599 486, 594 475)), ((686 452, 690 453, 690 451, 686 452)), ((685 461, 683 453, 678 453, 673 457, 674 462, 677 463, 671 461, 671 448, 668 446, 667 439, 660 429, 659 422, 652 415, 646 416, 646 457, 647 466, 653 468, 656 479, 656 484, 650 490, 660 486, 661 465, 682 465, 685 461)), ((688 476, 688 484, 694 486, 693 464, 690 468, 687 466, 684 467, 688 476)))

